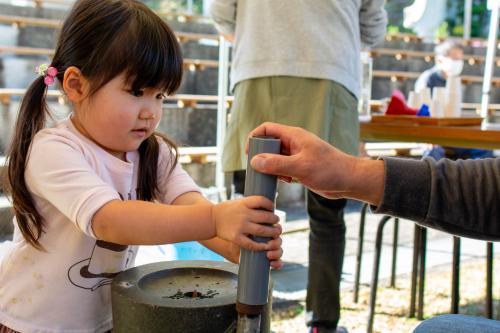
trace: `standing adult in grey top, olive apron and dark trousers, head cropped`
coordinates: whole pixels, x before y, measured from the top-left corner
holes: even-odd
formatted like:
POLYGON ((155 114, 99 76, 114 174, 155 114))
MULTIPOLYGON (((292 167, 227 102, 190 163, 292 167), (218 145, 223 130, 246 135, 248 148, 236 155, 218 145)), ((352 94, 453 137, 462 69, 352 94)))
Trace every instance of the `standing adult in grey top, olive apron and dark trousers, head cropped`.
MULTIPOLYGON (((357 153, 361 44, 374 45, 385 35, 383 4, 383 0, 212 3, 216 27, 233 42, 234 103, 222 155, 225 172, 245 169, 247 135, 264 121, 302 127, 344 152, 357 153)), ((337 323, 345 204, 307 191, 311 231, 306 308, 312 332, 342 332, 337 323)))

